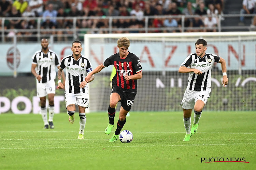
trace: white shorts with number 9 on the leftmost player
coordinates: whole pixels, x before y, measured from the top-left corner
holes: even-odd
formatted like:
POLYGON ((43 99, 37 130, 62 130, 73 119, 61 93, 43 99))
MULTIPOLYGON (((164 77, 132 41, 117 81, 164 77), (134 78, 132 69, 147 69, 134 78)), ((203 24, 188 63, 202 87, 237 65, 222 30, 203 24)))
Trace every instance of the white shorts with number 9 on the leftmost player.
POLYGON ((37 96, 38 97, 45 97, 47 94, 55 94, 55 81, 50 80, 46 83, 38 83, 37 80, 37 96))

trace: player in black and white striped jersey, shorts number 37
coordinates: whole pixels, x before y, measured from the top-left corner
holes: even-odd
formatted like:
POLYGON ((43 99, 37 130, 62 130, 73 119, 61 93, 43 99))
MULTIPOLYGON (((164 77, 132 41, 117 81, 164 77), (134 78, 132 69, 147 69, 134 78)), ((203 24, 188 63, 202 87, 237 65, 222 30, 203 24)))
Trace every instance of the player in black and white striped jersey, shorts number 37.
MULTIPOLYGON (((58 88, 65 88, 66 109, 69 114, 69 121, 74 123, 75 105, 79 108, 80 130, 78 139, 84 138, 84 127, 86 123, 85 108, 89 107, 88 86, 85 76, 93 69, 90 61, 81 54, 83 50, 81 41, 75 40, 71 48, 73 54, 64 57, 58 70, 58 88), (65 87, 61 82, 62 70, 66 68, 65 87)), ((88 82, 94 80, 94 76, 88 82)))

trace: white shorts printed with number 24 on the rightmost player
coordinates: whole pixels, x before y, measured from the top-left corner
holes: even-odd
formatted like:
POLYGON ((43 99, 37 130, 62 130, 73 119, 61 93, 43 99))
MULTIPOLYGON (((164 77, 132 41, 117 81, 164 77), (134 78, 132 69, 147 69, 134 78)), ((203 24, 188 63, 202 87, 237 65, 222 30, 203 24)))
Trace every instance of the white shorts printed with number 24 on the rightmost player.
POLYGON ((209 90, 194 91, 186 89, 180 106, 182 106, 184 109, 194 108, 197 100, 202 100, 205 105, 210 97, 210 93, 211 91, 209 90))

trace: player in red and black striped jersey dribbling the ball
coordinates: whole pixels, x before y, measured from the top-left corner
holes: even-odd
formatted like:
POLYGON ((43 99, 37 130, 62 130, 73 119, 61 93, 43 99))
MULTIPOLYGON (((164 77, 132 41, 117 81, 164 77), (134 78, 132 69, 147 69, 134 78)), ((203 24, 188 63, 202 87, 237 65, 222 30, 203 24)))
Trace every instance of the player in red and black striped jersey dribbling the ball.
POLYGON ((96 67, 85 77, 85 81, 89 81, 91 75, 110 65, 114 65, 116 69, 116 75, 112 79, 112 91, 108 109, 109 124, 105 129, 106 134, 110 134, 114 127, 115 106, 119 101, 121 102, 121 108, 117 128, 110 142, 119 138, 119 133, 126 122, 126 115, 130 111, 137 93, 137 80, 142 78, 140 58, 128 51, 129 46, 130 40, 128 38, 119 38, 117 41, 119 52, 111 55, 103 64, 96 67))

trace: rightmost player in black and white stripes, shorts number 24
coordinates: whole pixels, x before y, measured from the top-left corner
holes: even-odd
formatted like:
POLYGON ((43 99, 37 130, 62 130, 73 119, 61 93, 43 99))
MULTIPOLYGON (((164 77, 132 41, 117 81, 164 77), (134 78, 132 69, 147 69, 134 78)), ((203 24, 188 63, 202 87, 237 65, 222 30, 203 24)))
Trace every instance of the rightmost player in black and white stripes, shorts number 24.
POLYGON ((187 89, 181 102, 186 130, 184 141, 189 141, 191 134, 197 132, 202 109, 211 93, 211 69, 214 62, 221 63, 222 84, 224 87, 228 84, 226 61, 215 54, 205 53, 207 42, 204 39, 198 39, 195 45, 196 53, 189 54, 179 68, 179 73, 189 73, 187 89), (190 116, 193 108, 194 122, 190 130, 190 116))

